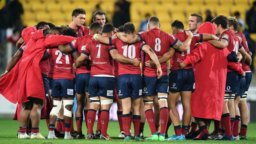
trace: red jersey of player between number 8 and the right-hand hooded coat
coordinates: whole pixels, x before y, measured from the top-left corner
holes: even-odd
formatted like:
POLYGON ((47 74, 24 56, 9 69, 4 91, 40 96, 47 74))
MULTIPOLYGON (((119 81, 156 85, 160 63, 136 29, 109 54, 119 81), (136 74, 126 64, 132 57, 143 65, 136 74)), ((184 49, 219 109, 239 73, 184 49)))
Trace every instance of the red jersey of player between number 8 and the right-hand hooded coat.
MULTIPOLYGON (((179 33, 176 33, 175 35, 174 35, 174 37, 176 37, 178 40, 180 40, 181 42, 184 42, 184 41, 186 41, 186 39, 187 39, 187 35, 186 35, 186 33, 185 32, 179 32, 179 33)), ((191 50, 193 50, 194 48, 195 48, 195 44, 197 43, 197 42, 202 42, 203 41, 203 35, 202 34, 198 34, 198 33, 194 33, 193 34, 193 39, 192 39, 192 41, 191 41, 191 44, 190 44, 190 47, 189 47, 189 49, 187 50, 187 52, 180 52, 180 51, 178 51, 178 50, 175 50, 175 52, 174 52, 174 55, 173 55, 173 63, 172 63, 172 65, 171 65, 171 69, 170 70, 178 70, 178 69, 180 69, 179 67, 178 67, 178 64, 180 63, 180 62, 182 62, 185 58, 186 58, 186 56, 188 55, 188 54, 190 54, 190 51, 191 50)), ((186 67, 185 67, 185 69, 189 69, 189 68, 193 68, 193 65, 187 65, 186 67)))

